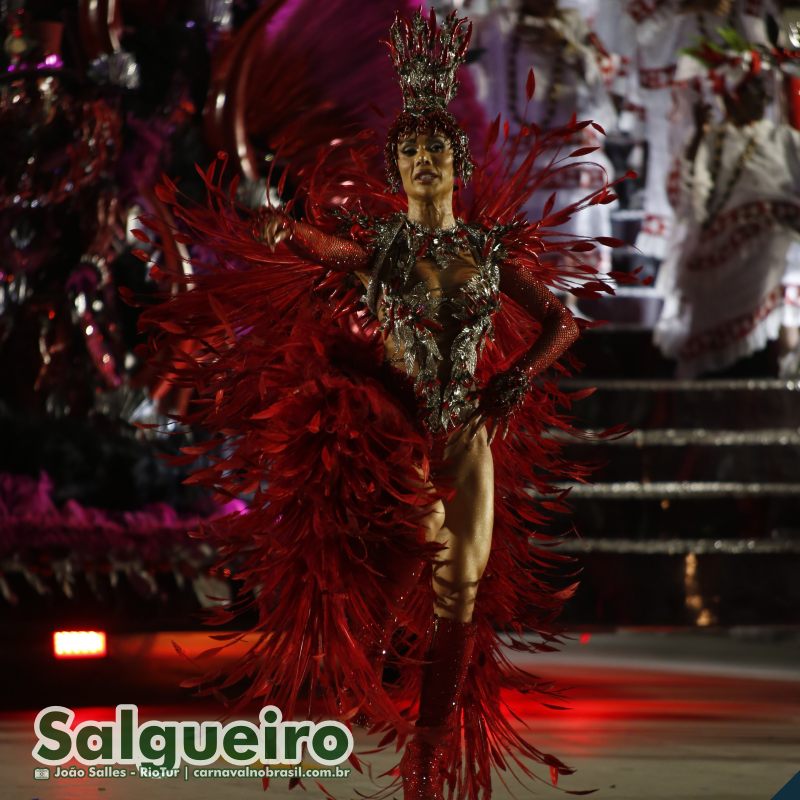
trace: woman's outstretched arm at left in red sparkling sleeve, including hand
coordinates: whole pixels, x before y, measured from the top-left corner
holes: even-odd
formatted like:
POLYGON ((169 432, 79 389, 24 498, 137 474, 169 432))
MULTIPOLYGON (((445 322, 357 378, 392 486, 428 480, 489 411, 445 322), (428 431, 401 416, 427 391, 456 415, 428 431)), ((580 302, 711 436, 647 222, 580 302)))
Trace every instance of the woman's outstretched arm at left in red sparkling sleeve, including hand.
POLYGON ((299 255, 337 272, 369 270, 369 253, 357 242, 323 233, 307 222, 296 222, 280 212, 259 214, 253 224, 253 236, 272 249, 286 241, 299 255))

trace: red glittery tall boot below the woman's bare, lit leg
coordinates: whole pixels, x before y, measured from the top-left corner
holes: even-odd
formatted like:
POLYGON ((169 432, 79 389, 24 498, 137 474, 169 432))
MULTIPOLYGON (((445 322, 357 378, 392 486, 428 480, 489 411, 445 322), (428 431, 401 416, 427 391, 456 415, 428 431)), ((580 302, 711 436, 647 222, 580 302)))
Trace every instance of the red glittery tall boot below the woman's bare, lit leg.
POLYGON ((474 646, 474 623, 434 615, 416 733, 400 762, 404 800, 443 800, 445 760, 460 736, 461 690, 474 646))

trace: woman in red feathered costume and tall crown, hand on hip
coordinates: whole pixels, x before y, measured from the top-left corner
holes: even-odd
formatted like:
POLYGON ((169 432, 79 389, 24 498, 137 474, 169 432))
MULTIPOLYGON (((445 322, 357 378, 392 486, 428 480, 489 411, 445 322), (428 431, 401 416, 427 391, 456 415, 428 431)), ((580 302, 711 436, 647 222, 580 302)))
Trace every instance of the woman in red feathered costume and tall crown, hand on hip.
POLYGON ((364 144, 339 148, 335 176, 324 161, 306 175, 303 222, 248 215, 214 167, 204 207, 179 203, 167 181, 180 236, 217 262, 145 315, 155 346, 178 353, 171 380, 195 391, 183 421, 212 434, 187 453, 210 462, 194 480, 251 495, 246 513, 204 533, 243 587, 218 621, 258 614, 220 638, 253 643, 201 691, 246 679, 234 710, 258 698, 287 719, 338 716, 384 732, 380 747, 410 735, 407 799, 489 797, 493 766, 538 778, 526 760, 553 784, 572 771, 507 720, 501 690, 558 693, 512 664, 500 635, 513 650, 552 650, 576 586, 550 585, 570 559, 532 530, 561 508, 555 481, 585 476, 543 435, 573 430, 558 409, 574 397, 543 374, 578 335, 547 284, 605 287, 580 264, 594 243, 549 229, 613 194, 558 213, 550 202, 535 223, 517 216, 568 168, 534 174, 536 156, 593 124, 582 122, 523 131, 507 143, 530 148, 522 167, 511 172, 509 152, 479 171, 471 221, 456 216, 454 184, 473 165, 446 106, 469 35, 454 14, 392 27, 404 110, 385 156, 407 208, 369 175, 364 144))

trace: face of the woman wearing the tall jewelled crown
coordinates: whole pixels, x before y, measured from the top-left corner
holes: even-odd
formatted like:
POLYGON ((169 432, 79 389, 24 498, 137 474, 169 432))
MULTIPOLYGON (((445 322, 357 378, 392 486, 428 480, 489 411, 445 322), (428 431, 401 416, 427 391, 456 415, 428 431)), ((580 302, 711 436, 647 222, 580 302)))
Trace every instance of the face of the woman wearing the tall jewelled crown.
POLYGON ((409 198, 430 201, 453 194, 453 149, 440 133, 423 131, 400 137, 397 167, 409 198))

